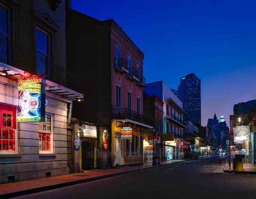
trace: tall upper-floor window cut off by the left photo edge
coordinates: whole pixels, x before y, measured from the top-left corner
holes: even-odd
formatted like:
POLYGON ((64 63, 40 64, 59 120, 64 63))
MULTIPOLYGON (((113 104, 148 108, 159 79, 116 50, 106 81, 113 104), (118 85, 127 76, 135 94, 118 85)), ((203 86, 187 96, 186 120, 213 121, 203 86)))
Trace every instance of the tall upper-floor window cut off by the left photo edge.
POLYGON ((0 4, 0 62, 10 63, 11 16, 10 9, 0 4))

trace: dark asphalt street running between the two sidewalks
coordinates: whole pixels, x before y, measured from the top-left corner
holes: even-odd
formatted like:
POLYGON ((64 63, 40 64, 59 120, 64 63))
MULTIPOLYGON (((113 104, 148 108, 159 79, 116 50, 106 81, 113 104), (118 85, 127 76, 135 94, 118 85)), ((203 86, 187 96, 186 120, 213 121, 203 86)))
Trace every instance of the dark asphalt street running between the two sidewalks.
POLYGON ((16 199, 255 199, 256 175, 223 173, 225 161, 209 156, 16 199))

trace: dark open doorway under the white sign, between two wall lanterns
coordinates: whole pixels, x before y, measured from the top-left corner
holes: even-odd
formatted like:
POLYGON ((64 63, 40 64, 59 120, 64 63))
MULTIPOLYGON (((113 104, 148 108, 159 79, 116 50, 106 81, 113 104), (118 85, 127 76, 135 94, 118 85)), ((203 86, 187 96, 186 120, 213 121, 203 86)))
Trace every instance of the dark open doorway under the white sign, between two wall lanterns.
POLYGON ((81 143, 83 170, 91 170, 96 168, 96 148, 97 146, 95 141, 83 141, 81 143))

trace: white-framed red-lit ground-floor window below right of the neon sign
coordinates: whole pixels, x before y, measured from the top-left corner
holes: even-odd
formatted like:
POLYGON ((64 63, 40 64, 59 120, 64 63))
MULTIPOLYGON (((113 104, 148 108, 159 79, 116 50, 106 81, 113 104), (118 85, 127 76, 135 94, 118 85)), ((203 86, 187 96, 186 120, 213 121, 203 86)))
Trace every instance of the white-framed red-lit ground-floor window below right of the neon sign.
POLYGON ((45 121, 39 122, 39 153, 52 153, 52 121, 51 115, 46 115, 45 121))

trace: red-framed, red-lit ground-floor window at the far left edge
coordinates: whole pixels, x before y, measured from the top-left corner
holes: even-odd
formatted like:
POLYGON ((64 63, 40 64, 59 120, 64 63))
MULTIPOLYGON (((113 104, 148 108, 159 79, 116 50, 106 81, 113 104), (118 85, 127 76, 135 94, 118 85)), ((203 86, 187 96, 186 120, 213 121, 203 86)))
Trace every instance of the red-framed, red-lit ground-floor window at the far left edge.
POLYGON ((0 104, 0 153, 16 151, 16 107, 0 104))

